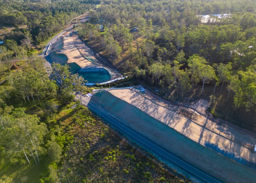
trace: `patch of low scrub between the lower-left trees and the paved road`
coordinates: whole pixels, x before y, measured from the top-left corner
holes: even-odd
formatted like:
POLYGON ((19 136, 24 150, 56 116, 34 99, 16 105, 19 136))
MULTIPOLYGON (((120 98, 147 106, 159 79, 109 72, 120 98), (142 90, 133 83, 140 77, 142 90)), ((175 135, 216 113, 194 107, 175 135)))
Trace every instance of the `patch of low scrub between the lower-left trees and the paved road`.
POLYGON ((131 146, 87 108, 71 113, 61 122, 65 133, 74 136, 64 152, 61 182, 187 182, 131 146))

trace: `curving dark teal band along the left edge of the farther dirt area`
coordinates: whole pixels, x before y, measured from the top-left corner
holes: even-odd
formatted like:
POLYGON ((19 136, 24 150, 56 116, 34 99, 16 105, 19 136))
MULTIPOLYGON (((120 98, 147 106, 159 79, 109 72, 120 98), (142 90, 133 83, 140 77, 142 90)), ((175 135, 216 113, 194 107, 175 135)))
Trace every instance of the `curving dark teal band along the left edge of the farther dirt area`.
POLYGON ((67 64, 70 66, 71 74, 78 73, 79 76, 84 77, 84 80, 87 80, 88 83, 103 83, 111 79, 111 75, 107 70, 104 71, 90 71, 90 72, 79 72, 81 67, 76 63, 67 63, 67 56, 65 54, 61 54, 59 50, 63 47, 62 38, 58 39, 53 47, 52 51, 48 55, 48 60, 50 63, 60 63, 62 66, 67 64))

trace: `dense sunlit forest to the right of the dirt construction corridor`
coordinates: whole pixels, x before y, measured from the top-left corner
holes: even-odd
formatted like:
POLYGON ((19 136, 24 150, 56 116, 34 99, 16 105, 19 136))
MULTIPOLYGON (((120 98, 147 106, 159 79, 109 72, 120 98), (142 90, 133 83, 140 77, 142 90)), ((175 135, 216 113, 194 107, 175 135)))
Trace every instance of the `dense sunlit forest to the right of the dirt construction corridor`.
POLYGON ((107 0, 78 30, 122 72, 174 100, 204 97, 212 109, 239 114, 238 123, 249 120, 245 126, 254 128, 255 6, 252 0, 107 0), (209 14, 207 22, 202 14, 209 14))

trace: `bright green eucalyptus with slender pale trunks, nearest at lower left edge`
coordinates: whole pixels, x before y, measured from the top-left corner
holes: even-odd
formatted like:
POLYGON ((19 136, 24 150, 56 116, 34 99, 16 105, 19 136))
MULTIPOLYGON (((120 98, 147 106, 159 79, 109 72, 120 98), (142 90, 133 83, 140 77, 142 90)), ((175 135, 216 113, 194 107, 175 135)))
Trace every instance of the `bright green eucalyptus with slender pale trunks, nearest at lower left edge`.
POLYGON ((0 145, 11 154, 23 153, 28 163, 29 157, 33 157, 38 164, 47 127, 39 123, 36 115, 28 115, 24 111, 23 108, 17 108, 8 115, 0 115, 0 145))

